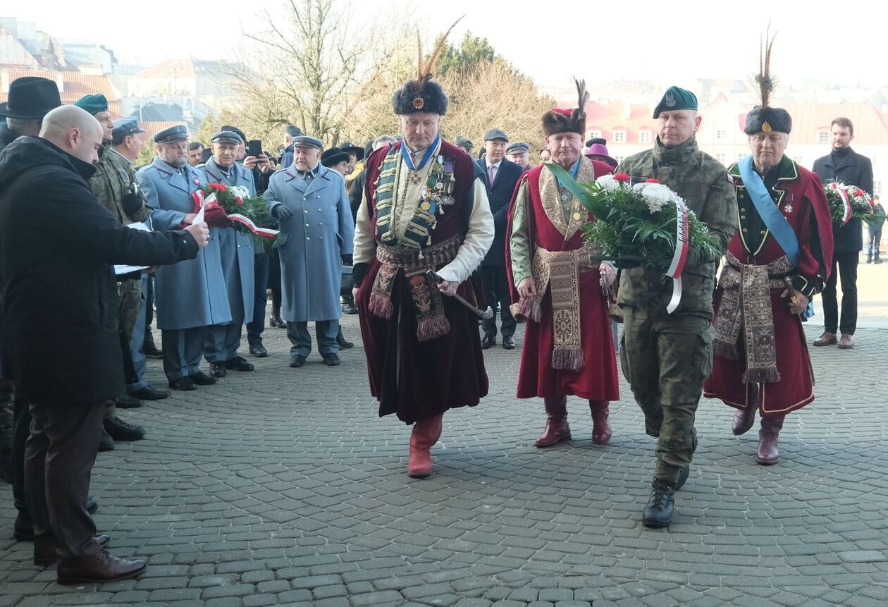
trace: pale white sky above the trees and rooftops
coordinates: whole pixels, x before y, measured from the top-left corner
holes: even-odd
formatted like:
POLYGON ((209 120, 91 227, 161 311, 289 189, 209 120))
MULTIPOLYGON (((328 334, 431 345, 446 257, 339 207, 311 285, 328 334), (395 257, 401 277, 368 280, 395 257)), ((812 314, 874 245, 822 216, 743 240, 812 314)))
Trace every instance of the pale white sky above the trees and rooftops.
MULTIPOLYGON (((452 40, 458 41, 466 30, 487 37, 506 60, 543 86, 570 86, 571 76, 591 83, 621 78, 674 84, 689 84, 695 78, 745 80, 757 71, 759 36, 769 20, 777 30, 772 70, 782 81, 888 84, 888 3, 882 0, 347 4, 359 23, 375 13, 410 11, 430 38, 464 14, 452 40)), ((278 0, 263 5, 274 18, 283 14, 278 0)), ((232 45, 241 44, 242 36, 231 42, 212 32, 234 32, 237 38, 243 31, 256 31, 263 10, 240 0, 89 1, 78 3, 77 12, 71 6, 70 0, 7 3, 0 14, 34 20, 37 28, 62 39, 105 44, 124 62, 148 65, 186 55, 231 57, 232 45), (95 11, 90 10, 92 4, 95 11)), ((413 48, 416 42, 405 44, 413 48)))

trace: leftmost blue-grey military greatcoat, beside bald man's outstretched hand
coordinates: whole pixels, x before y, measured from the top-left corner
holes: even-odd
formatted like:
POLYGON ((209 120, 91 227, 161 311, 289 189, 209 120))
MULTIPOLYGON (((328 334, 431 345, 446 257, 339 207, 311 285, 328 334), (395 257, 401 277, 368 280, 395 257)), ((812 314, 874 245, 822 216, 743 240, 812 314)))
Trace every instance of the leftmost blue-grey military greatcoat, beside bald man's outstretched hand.
MULTIPOLYGON (((156 230, 177 228, 187 213, 194 212, 192 193, 205 185, 193 167, 186 164, 177 171, 160 158, 139 169, 136 179, 152 208, 156 230)), ((194 260, 158 268, 155 276, 158 329, 231 322, 218 237, 210 240, 194 260)))

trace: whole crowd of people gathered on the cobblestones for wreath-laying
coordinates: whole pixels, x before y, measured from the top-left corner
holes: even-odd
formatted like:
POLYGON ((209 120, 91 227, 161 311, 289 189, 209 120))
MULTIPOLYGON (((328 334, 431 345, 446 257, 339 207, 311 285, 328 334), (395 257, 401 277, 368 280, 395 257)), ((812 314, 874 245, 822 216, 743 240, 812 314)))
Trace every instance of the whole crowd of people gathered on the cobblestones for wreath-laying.
MULTIPOLYGON (((784 154, 791 117, 763 94, 746 117, 751 154, 725 170, 697 147, 694 93, 670 87, 654 108, 654 146, 618 163, 606 140, 585 140, 588 93, 577 83, 576 108, 543 116, 534 166, 531 145, 496 125, 477 158, 468 137, 442 139, 448 96, 426 68, 392 98, 400 132, 363 148, 325 148, 289 126, 278 157, 234 126, 204 146, 176 125, 155 134, 155 157, 138 170, 147 142, 135 117, 113 120, 102 95, 62 106, 44 78, 11 84, 0 105, 0 411, 9 428, 0 457, 15 537, 34 542, 35 563, 58 563, 60 583, 144 571, 144 561, 109 555, 110 538, 92 522, 96 452, 145 435, 119 409, 170 397, 148 384, 147 357, 163 360, 178 391, 254 371, 242 332, 250 355, 266 357, 269 289, 269 324, 286 329, 292 368, 312 352, 308 323, 322 363, 337 366, 340 348, 353 347, 341 315, 360 315, 379 415, 412 424, 410 476, 432 474, 444 414, 488 394, 482 350, 497 338, 515 348, 519 322, 517 397, 543 399, 540 448, 571 438, 571 395, 589 403, 593 443, 608 443, 619 354, 656 440, 645 525, 673 519, 703 394, 737 410, 734 434, 760 416, 756 460, 778 461, 785 415, 814 398, 802 319, 815 295, 825 332, 813 344, 854 345, 862 228, 832 222, 822 185, 872 192, 851 121, 833 121, 832 150, 808 171, 784 154), (662 272, 591 255, 581 228, 595 218, 547 165, 579 183, 617 172, 681 196, 716 244, 686 259, 677 307, 667 311, 674 294, 662 272), (261 197, 274 246, 207 211, 210 184, 261 197)), ((868 262, 881 263, 880 217, 868 221, 868 262)))

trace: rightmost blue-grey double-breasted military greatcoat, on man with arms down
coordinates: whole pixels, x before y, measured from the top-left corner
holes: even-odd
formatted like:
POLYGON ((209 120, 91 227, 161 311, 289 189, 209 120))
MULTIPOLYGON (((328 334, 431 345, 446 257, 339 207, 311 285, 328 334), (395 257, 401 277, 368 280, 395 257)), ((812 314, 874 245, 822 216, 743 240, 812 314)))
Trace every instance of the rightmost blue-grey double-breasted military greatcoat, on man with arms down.
POLYGON ((345 180, 323 166, 309 183, 294 166, 275 172, 263 197, 270 210, 284 204, 275 243, 281 253, 281 318, 291 323, 337 320, 342 255, 353 251, 354 225, 345 180))

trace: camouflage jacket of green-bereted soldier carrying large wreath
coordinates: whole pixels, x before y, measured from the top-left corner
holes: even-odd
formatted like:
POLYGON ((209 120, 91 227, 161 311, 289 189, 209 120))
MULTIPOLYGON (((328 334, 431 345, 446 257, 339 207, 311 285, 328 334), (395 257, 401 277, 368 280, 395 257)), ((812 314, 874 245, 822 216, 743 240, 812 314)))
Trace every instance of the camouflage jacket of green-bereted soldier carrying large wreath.
MULTIPOLYGON (((630 156, 617 172, 630 175, 632 183, 654 178, 681 196, 687 208, 718 236, 717 259, 688 255, 681 275, 681 303, 673 314, 712 316, 717 262, 737 230, 737 199, 727 169, 697 148, 694 137, 675 148, 667 148, 657 138, 654 148, 630 156)), ((624 269, 620 276, 617 302, 648 314, 666 314, 672 296, 672 281, 647 268, 624 269)))

